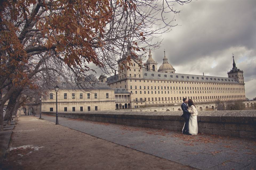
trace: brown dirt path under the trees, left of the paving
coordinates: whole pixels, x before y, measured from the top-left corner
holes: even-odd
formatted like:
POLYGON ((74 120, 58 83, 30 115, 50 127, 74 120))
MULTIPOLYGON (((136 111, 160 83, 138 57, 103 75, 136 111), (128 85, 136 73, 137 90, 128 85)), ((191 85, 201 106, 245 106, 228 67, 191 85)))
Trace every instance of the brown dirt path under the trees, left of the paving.
POLYGON ((193 169, 55 125, 18 119, 0 169, 193 169))

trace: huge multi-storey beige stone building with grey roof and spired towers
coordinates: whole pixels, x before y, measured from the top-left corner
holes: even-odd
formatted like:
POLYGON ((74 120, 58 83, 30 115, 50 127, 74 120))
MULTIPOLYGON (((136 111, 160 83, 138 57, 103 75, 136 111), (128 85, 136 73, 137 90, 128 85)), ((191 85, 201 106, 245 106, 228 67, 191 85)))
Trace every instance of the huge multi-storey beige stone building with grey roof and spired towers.
MULTIPOLYGON (((174 69, 172 66, 171 68, 162 66, 160 72, 153 71, 151 65, 154 60, 151 53, 145 63, 145 66, 150 69, 140 67, 141 59, 133 60, 132 64, 125 62, 125 59, 123 57, 119 60, 118 74, 108 77, 107 84, 111 88, 125 88, 130 91, 135 108, 148 104, 177 103, 177 105, 180 105, 182 98, 189 98, 194 102, 202 103, 215 100, 246 99, 243 72, 239 69, 233 68, 233 71, 228 72, 229 77, 227 78, 188 75, 175 73, 171 70, 174 69), (127 66, 130 69, 127 69, 127 66), (163 72, 165 69, 167 70, 163 72)), ((163 60, 167 64, 166 56, 163 60)), ((235 66, 234 63, 233 66, 235 66)))

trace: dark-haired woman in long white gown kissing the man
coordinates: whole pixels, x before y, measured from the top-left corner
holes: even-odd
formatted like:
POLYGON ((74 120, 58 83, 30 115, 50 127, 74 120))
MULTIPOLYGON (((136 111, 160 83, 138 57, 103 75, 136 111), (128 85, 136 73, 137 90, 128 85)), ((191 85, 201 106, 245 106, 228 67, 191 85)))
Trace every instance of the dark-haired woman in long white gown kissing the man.
MULTIPOLYGON (((189 133, 192 135, 197 135, 198 125, 197 125, 197 109, 191 99, 187 102, 189 108, 187 109, 190 113, 189 116, 189 133)), ((183 127, 184 128, 184 127, 183 127)))

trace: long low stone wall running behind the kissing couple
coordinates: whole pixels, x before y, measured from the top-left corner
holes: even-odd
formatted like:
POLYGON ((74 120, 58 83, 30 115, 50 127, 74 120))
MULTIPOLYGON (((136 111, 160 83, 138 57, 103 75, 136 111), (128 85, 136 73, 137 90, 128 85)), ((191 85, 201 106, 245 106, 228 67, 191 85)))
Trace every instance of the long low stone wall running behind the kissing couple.
MULTIPOLYGON (((43 114, 55 115, 54 112, 43 114)), ((65 112, 60 117, 84 119, 89 121, 109 122, 129 126, 180 131, 184 125, 182 112, 65 112)), ((198 111, 198 131, 241 138, 256 138, 256 111, 198 111)))

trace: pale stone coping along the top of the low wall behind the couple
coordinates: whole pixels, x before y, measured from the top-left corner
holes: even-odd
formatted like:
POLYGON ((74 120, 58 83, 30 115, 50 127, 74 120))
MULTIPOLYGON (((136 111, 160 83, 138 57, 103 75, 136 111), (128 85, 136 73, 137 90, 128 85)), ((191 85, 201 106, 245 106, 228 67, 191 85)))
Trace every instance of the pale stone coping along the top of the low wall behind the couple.
MULTIPOLYGON (((52 113, 54 112, 42 112, 52 113)), ((101 116, 134 118, 149 120, 184 120, 182 111, 147 111, 147 112, 118 112, 118 111, 90 111, 90 112, 59 112, 58 114, 80 115, 80 116, 101 116)), ((219 123, 242 123, 256 124, 256 110, 241 111, 198 111, 197 120, 200 122, 219 122, 219 123)))

